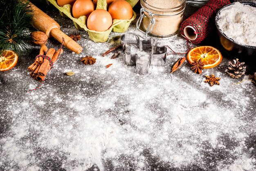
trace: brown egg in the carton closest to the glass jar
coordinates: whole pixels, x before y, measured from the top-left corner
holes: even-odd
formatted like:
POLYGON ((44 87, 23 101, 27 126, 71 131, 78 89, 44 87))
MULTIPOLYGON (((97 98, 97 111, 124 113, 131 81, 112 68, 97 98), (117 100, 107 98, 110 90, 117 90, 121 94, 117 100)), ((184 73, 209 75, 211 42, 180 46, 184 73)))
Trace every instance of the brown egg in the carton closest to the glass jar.
POLYGON ((116 0, 108 8, 112 19, 130 20, 132 18, 132 6, 125 0, 116 0))

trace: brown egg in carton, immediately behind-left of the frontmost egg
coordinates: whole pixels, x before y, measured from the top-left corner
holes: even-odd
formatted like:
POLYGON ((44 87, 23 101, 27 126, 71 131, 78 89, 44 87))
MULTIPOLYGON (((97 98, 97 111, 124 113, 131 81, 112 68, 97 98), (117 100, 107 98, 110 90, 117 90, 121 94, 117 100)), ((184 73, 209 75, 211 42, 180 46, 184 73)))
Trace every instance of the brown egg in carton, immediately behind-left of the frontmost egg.
POLYGON ((76 0, 72 8, 74 18, 88 17, 92 11, 94 11, 94 4, 91 0, 76 0))

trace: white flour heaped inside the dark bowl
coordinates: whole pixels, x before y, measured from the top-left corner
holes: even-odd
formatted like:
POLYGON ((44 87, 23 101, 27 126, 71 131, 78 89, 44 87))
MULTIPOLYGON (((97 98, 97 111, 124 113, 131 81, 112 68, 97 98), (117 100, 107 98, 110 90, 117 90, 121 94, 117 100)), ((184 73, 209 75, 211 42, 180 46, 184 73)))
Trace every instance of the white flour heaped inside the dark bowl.
POLYGON ((235 42, 256 46, 256 8, 236 2, 220 12, 218 25, 235 42))

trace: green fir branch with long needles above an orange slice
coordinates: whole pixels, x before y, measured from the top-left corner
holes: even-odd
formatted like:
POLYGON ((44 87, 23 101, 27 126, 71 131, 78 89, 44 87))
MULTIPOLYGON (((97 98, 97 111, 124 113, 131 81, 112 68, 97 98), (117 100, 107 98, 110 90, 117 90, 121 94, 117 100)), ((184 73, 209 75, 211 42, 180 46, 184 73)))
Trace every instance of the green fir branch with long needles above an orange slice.
POLYGON ((0 0, 0 53, 13 50, 19 53, 28 49, 29 29, 32 26, 32 8, 29 1, 0 0))

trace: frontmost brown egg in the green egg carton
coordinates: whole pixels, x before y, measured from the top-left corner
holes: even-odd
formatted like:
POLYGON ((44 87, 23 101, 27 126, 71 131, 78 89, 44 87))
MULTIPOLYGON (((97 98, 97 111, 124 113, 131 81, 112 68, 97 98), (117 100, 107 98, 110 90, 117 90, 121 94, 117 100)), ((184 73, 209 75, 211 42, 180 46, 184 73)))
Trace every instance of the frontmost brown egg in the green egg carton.
POLYGON ((108 11, 96 9, 87 20, 87 27, 94 31, 106 31, 112 26, 112 18, 108 11))

